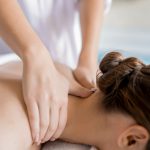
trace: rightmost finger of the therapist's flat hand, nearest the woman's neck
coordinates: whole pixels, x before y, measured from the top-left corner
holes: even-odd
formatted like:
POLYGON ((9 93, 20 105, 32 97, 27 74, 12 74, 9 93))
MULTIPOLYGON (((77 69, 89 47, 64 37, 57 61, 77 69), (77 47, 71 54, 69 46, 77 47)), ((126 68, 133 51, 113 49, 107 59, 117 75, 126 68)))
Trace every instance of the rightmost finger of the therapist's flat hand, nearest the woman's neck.
POLYGON ((67 123, 67 105, 63 106, 60 109, 60 113, 59 113, 59 125, 58 125, 58 128, 57 128, 57 131, 55 132, 55 134, 52 137, 52 140, 55 140, 55 139, 57 139, 57 138, 60 137, 60 135, 64 131, 66 123, 67 123))

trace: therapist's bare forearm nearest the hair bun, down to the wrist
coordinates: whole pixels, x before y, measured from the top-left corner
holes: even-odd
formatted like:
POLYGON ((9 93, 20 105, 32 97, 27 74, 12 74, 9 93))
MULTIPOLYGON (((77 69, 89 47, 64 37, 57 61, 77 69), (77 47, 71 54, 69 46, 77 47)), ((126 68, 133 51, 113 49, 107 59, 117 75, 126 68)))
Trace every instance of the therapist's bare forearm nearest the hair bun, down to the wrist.
POLYGON ((104 12, 103 0, 80 0, 82 51, 79 61, 96 59, 104 12))

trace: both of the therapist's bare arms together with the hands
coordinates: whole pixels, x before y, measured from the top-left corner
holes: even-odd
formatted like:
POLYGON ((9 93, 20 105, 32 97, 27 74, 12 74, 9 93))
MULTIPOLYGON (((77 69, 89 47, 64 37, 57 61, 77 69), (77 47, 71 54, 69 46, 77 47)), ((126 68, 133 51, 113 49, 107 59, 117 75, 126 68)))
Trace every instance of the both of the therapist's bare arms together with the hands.
MULTIPOLYGON (((78 81, 90 89, 95 81, 95 70, 91 66, 96 66, 103 0, 80 2, 83 44, 79 65, 74 72, 78 81), (85 56, 89 61, 83 65, 85 56), (85 80, 82 80, 83 77, 85 80)), ((47 48, 28 22, 17 0, 0 0, 0 36, 24 64, 22 91, 34 142, 57 139, 67 122, 69 83, 57 72, 47 48), (36 88, 39 84, 39 88, 36 88), (49 99, 51 104, 48 105, 49 99)))

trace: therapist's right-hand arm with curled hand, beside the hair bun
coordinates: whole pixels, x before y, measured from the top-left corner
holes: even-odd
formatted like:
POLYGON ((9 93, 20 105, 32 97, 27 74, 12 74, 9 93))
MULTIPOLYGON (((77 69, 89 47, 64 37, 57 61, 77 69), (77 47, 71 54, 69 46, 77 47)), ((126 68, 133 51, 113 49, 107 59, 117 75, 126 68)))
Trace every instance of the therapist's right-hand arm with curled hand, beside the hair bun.
POLYGON ((82 49, 74 75, 80 84, 89 89, 96 85, 99 33, 103 17, 104 0, 80 0, 82 49))

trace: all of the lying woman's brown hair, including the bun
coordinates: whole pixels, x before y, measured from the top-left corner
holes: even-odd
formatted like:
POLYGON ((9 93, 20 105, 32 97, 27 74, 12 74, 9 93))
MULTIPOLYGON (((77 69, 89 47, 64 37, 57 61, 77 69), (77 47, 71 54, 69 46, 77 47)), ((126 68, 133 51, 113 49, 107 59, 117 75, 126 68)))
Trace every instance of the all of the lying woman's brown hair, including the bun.
MULTIPOLYGON (((129 114, 150 133, 150 65, 119 52, 108 53, 99 66, 97 85, 106 111, 129 114)), ((150 150, 150 141, 146 150, 150 150)))

